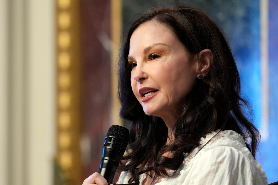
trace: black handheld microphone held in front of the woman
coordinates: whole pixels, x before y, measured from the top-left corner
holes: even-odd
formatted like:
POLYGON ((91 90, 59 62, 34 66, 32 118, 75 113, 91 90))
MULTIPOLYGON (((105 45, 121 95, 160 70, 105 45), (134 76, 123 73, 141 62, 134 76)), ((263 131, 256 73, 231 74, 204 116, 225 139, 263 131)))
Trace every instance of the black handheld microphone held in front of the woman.
POLYGON ((99 173, 112 184, 117 167, 128 145, 129 131, 127 128, 112 125, 105 137, 99 173))

